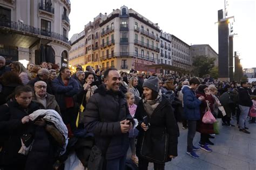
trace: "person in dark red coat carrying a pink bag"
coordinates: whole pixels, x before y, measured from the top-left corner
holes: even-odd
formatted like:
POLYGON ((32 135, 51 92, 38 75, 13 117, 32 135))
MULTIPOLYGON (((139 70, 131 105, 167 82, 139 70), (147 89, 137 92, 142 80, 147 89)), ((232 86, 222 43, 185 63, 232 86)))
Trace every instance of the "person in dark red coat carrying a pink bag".
POLYGON ((208 145, 214 145, 210 140, 210 134, 214 133, 213 124, 204 123, 203 117, 207 111, 213 112, 213 104, 214 98, 211 95, 211 92, 208 90, 208 87, 205 84, 201 84, 198 86, 198 90, 196 91, 197 97, 204 96, 205 100, 201 101, 200 104, 200 119, 197 123, 197 131, 201 133, 201 138, 199 141, 199 146, 201 150, 206 152, 212 152, 211 148, 208 145), (207 110, 207 104, 210 110, 207 110))

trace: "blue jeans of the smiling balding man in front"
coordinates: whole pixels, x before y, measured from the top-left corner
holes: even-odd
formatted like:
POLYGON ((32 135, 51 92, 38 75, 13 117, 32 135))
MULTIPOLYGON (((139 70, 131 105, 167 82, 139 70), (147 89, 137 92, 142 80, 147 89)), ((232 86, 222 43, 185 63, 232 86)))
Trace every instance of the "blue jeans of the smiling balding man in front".
POLYGON ((106 170, 124 170, 126 155, 118 159, 106 160, 106 170))

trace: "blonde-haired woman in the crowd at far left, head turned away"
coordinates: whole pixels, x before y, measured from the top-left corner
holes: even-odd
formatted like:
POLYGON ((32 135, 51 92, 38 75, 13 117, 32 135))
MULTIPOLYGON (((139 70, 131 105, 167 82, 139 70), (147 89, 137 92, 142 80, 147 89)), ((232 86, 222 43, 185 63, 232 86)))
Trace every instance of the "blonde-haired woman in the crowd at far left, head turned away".
POLYGON ((22 65, 21 62, 14 61, 11 63, 11 71, 19 75, 24 85, 28 84, 31 80, 29 71, 22 65))

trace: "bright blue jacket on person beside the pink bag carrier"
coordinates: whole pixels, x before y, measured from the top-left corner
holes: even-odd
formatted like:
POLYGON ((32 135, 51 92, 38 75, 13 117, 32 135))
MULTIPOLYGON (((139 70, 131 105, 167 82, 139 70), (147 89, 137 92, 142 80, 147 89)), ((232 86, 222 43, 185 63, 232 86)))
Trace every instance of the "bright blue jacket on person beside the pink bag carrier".
POLYGON ((184 103, 184 115, 188 120, 200 119, 200 104, 201 101, 196 97, 196 94, 189 87, 182 89, 183 103, 184 103))

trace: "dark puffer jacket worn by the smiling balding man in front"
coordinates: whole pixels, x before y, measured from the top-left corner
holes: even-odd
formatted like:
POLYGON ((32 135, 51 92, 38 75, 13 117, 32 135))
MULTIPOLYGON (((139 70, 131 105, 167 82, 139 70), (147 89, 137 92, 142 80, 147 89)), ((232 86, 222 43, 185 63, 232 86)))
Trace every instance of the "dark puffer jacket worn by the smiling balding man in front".
POLYGON ((121 91, 114 93, 100 85, 85 108, 85 128, 95 134, 95 144, 106 152, 106 159, 126 155, 129 133, 122 133, 120 121, 131 118, 125 96, 121 91))

